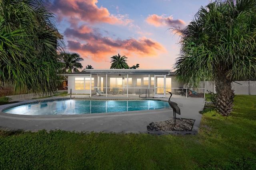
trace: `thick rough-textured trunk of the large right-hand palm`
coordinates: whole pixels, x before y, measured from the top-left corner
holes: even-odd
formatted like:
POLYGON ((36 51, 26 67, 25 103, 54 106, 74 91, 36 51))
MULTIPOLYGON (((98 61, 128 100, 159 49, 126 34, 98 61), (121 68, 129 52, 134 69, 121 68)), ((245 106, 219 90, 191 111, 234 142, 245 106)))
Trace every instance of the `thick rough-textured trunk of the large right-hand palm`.
POLYGON ((216 108, 221 115, 229 116, 234 102, 234 90, 231 81, 226 78, 216 78, 216 108))

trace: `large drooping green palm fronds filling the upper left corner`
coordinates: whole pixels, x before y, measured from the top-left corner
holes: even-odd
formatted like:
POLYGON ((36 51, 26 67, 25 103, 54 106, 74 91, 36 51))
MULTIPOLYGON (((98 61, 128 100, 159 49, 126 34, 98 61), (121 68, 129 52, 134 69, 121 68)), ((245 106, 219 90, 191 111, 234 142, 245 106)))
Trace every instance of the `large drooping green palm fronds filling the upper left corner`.
POLYGON ((12 84, 15 93, 56 89, 62 47, 54 16, 42 0, 0 1, 0 84, 12 84))

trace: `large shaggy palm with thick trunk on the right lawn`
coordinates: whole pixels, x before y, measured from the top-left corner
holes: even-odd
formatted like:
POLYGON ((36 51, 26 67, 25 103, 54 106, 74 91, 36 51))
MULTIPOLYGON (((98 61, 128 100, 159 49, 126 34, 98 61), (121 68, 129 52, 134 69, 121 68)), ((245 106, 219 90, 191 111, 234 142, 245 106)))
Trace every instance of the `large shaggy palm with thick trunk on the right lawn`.
POLYGON ((216 85, 216 109, 230 115, 234 80, 256 76, 256 0, 215 1, 201 7, 181 33, 177 79, 188 86, 202 80, 216 85))

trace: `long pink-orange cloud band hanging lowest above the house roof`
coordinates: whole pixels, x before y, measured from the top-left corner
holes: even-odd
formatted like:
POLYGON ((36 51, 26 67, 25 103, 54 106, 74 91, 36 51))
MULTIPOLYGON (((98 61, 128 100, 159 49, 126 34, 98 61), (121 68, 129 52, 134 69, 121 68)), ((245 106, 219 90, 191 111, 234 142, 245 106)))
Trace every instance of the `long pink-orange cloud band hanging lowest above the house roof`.
POLYGON ((139 39, 112 39, 104 37, 97 30, 88 27, 80 29, 66 29, 64 35, 79 41, 69 40, 68 49, 76 51, 83 57, 90 57, 94 61, 109 61, 110 57, 122 51, 127 57, 156 57, 160 53, 166 53, 166 49, 162 44, 141 37, 139 39), (91 31, 91 32, 90 32, 91 31), (82 43, 84 42, 84 43, 82 43))

